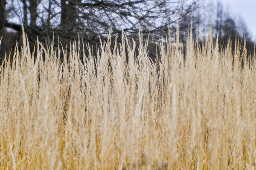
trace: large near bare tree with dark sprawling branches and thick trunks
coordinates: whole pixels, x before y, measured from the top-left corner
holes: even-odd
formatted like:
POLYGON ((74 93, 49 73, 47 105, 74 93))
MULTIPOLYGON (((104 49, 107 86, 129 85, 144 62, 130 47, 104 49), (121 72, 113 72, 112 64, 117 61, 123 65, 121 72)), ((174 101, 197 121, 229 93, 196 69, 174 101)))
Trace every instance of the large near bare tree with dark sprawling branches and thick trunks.
POLYGON ((136 36, 140 29, 158 38, 166 35, 168 25, 198 9, 198 1, 9 0, 8 17, 0 17, 0 22, 5 23, 1 30, 8 27, 20 32, 23 24, 29 36, 38 36, 41 41, 49 40, 54 33, 65 39, 80 34, 83 40, 93 43, 98 36, 108 35, 110 27, 113 36, 121 35, 122 30, 136 36))

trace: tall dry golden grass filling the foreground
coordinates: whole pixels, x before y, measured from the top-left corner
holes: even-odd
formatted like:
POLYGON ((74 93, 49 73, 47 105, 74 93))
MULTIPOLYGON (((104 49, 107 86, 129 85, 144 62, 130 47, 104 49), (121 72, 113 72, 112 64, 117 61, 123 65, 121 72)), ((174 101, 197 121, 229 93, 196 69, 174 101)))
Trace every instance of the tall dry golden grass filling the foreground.
POLYGON ((184 61, 175 44, 154 63, 125 37, 85 64, 83 49, 16 51, 0 68, 0 168, 255 169, 256 60, 241 68, 243 48, 209 38, 184 61))

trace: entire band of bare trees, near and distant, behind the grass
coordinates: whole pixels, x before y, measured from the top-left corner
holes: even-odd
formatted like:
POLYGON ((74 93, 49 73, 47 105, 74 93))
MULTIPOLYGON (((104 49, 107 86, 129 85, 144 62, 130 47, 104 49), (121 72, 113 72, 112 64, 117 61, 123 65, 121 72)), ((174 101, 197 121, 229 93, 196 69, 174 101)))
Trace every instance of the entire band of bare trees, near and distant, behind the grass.
POLYGON ((123 32, 138 42, 141 32, 150 38, 148 50, 154 58, 155 42, 165 39, 169 31, 175 41, 178 26, 183 47, 191 28, 193 40, 201 44, 209 33, 214 41, 218 35, 220 48, 227 46, 230 39, 233 49, 236 43, 243 46, 246 40, 247 53, 252 54, 255 42, 246 24, 230 13, 220 1, 209 4, 204 0, 0 0, 0 63, 16 42, 22 46, 22 30, 31 50, 36 40, 55 47, 60 42, 68 50, 70 42, 78 39, 96 50, 100 39, 108 41, 109 33, 118 42, 123 32))

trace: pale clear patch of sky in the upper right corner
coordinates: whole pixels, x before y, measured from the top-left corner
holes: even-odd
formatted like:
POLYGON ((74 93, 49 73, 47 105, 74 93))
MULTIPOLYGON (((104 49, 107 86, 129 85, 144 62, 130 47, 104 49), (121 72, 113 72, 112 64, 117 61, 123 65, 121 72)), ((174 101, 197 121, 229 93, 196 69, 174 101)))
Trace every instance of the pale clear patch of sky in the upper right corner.
MULTIPOLYGON (((217 0, 215 0, 216 2, 217 0)), ((256 40, 256 0, 220 0, 224 7, 229 7, 233 16, 239 16, 247 24, 248 31, 252 38, 256 40)))

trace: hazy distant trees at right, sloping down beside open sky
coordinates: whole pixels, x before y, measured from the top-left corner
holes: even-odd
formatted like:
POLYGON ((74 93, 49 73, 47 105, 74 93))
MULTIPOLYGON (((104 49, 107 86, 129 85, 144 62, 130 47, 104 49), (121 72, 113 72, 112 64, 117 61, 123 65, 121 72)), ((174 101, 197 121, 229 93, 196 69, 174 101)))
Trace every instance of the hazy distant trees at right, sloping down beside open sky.
MULTIPOLYGON (((205 9, 197 9, 188 18, 184 17, 184 20, 180 20, 180 27, 192 28, 193 39, 198 38, 201 44, 209 36, 214 42, 218 40, 220 50, 228 45, 235 50, 236 46, 240 45, 241 48, 245 47, 247 57, 253 55, 255 40, 240 14, 234 15, 220 0, 216 3, 208 3, 205 9)), ((184 45, 187 36, 187 32, 180 32, 180 40, 184 45)))

